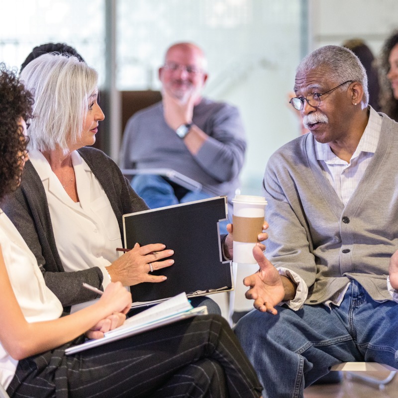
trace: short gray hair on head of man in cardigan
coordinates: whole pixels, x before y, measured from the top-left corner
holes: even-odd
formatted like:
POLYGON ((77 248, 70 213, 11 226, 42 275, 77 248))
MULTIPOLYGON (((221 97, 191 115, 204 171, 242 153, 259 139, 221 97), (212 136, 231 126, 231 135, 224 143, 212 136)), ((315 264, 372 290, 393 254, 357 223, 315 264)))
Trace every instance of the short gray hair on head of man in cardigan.
MULTIPOLYGON (((353 80, 359 82, 364 90, 363 102, 368 105, 368 77, 359 58, 348 48, 340 46, 320 47, 308 54, 298 65, 297 74, 307 73, 324 66, 328 70, 328 77, 333 81, 344 82, 353 80)), ((344 86, 341 89, 344 90, 344 86)))

